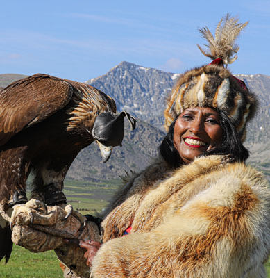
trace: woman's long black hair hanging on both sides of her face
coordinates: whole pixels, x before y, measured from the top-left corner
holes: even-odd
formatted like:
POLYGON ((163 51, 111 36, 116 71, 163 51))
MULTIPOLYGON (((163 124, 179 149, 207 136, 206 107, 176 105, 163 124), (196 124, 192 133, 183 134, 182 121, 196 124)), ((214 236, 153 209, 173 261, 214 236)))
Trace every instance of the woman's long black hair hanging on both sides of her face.
MULTIPOLYGON (((174 126, 176 120, 177 117, 171 123, 171 126, 169 126, 169 131, 159 147, 160 155, 173 168, 183 164, 178 151, 174 147, 174 126)), ((242 144, 236 127, 230 122, 230 119, 223 111, 219 111, 219 122, 223 130, 221 144, 214 149, 204 152, 201 156, 224 154, 229 155, 232 161, 246 161, 249 156, 248 150, 242 144)))

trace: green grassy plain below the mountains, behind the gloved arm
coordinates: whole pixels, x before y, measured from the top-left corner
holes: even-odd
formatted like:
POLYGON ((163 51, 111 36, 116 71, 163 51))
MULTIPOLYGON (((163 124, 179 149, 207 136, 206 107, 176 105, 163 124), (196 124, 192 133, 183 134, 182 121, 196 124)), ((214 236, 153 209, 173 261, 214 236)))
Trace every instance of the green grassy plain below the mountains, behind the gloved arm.
MULTIPOLYGON (((119 184, 119 180, 109 184, 65 181, 65 195, 68 204, 82 214, 100 212, 108 204, 119 184)), ((266 263, 267 277, 270 278, 270 260, 266 263)), ((58 278, 62 277, 59 261, 53 251, 31 253, 23 247, 14 245, 10 261, 0 263, 1 278, 58 278)))

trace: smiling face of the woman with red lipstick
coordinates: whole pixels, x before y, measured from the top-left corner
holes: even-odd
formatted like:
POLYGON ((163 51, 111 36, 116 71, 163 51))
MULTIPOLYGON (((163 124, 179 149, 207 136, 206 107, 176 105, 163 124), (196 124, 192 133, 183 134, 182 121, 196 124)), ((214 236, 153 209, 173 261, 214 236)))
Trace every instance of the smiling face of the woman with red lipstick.
POLYGON ((222 140, 219 113, 209 107, 187 108, 174 126, 174 147, 184 163, 217 147, 222 140))

